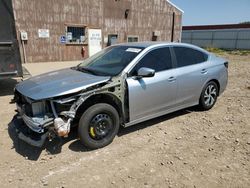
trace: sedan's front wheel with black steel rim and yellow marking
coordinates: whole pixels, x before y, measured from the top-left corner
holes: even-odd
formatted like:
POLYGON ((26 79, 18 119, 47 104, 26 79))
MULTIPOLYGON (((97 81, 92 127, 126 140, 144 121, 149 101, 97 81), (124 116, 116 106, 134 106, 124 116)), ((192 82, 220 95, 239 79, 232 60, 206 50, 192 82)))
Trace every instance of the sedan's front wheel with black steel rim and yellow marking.
POLYGON ((109 104, 99 103, 83 113, 78 126, 78 134, 85 147, 98 149, 113 141, 119 127, 117 110, 109 104))

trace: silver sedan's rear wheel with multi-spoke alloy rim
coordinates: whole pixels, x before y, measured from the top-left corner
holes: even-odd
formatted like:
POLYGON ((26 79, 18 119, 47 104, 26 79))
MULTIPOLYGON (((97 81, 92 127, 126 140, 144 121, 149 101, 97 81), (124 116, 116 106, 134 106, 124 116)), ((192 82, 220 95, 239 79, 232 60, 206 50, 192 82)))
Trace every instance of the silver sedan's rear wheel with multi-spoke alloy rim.
POLYGON ((199 106, 202 110, 213 108, 218 97, 218 85, 214 82, 208 82, 203 88, 200 96, 199 106))

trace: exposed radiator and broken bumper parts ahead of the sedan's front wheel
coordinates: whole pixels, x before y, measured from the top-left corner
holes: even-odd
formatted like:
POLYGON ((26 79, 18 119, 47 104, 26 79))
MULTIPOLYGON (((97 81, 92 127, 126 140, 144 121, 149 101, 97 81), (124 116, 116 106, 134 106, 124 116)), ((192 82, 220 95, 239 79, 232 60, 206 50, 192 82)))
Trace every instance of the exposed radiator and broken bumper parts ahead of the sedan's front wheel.
POLYGON ((18 112, 15 126, 19 139, 32 146, 42 147, 47 138, 67 137, 80 106, 78 100, 81 98, 82 101, 83 95, 35 101, 15 91, 18 112))

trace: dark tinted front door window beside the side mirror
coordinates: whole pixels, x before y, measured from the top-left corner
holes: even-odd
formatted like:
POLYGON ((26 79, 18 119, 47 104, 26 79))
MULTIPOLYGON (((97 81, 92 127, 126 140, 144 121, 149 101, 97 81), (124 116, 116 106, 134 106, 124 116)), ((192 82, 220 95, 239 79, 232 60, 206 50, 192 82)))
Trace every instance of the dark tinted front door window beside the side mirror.
POLYGON ((135 66, 132 75, 136 75, 142 67, 154 69, 155 72, 171 69, 172 60, 169 48, 159 48, 149 52, 135 66))

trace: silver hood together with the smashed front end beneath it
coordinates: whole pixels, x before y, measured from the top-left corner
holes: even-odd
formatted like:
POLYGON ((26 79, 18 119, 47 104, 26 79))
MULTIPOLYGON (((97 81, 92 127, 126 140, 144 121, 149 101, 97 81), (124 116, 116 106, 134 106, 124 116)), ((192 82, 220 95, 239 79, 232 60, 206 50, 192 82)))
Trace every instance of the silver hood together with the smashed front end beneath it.
POLYGON ((18 137, 36 147, 47 138, 66 137, 82 100, 110 79, 68 68, 21 82, 14 96, 18 137))

